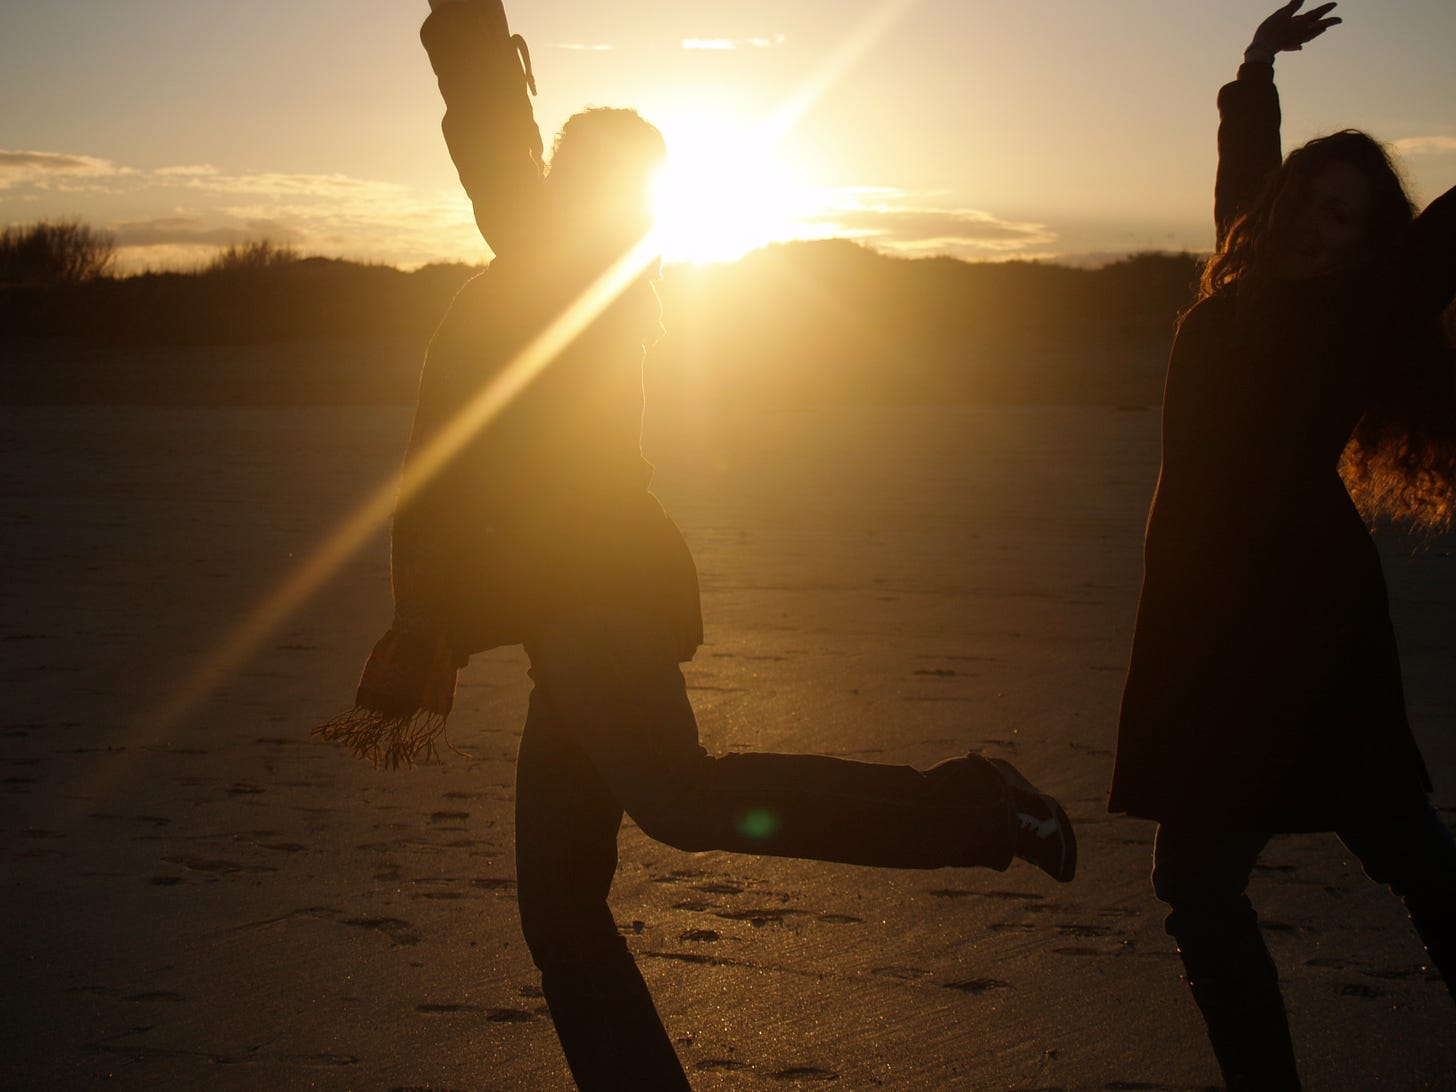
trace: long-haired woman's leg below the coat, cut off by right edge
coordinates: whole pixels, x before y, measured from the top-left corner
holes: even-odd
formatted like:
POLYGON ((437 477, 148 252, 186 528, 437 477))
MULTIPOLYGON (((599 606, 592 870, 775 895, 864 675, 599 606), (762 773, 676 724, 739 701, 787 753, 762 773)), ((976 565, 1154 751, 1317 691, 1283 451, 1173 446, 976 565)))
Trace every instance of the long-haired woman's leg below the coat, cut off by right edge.
POLYGON ((1366 875, 1405 900, 1431 962, 1456 999, 1456 839, 1424 796, 1340 831, 1366 875))

